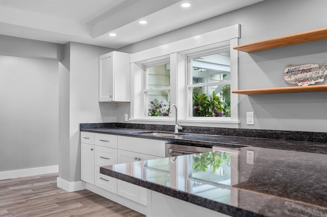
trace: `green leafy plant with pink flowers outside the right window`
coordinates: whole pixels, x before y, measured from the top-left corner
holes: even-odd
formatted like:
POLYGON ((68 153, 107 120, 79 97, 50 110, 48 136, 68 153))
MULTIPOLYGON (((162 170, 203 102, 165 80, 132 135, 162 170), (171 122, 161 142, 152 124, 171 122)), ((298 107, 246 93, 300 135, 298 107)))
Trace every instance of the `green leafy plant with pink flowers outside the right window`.
POLYGON ((215 91, 212 97, 208 97, 205 93, 193 94, 193 116, 195 117, 223 117, 226 113, 225 106, 226 103, 220 100, 215 91))

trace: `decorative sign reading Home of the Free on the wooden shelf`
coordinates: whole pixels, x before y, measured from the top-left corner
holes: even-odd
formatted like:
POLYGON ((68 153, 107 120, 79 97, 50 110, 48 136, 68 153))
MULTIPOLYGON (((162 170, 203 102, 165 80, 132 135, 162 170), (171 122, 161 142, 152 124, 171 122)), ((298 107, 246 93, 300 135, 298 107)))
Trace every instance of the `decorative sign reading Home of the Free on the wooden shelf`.
POLYGON ((284 79, 291 84, 298 86, 313 85, 317 82, 323 82, 327 74, 327 63, 319 68, 318 64, 306 65, 288 65, 284 71, 284 79))

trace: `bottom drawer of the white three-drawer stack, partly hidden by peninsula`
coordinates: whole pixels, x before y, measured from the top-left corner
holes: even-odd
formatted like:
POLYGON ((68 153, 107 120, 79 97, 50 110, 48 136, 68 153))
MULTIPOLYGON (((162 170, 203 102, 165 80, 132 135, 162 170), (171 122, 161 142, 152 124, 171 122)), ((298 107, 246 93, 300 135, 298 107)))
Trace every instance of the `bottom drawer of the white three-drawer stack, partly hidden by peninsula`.
POLYGON ((117 194, 117 179, 101 174, 98 166, 95 166, 95 177, 96 186, 117 194))

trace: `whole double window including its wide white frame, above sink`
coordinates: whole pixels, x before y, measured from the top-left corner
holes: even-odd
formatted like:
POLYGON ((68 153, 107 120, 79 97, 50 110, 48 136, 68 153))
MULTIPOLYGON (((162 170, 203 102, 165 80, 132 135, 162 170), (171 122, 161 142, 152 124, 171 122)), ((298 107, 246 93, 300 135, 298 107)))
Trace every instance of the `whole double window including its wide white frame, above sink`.
POLYGON ((239 36, 236 24, 132 53, 131 123, 175 124, 176 104, 181 125, 238 127, 239 36), (200 111, 200 96, 212 106, 200 111))

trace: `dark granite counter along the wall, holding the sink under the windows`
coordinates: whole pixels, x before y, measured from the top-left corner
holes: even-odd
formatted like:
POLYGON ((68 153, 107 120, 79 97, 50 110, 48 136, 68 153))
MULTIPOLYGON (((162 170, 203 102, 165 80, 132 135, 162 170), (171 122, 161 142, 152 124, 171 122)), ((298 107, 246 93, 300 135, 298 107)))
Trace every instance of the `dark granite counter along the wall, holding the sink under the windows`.
MULTIPOLYGON (((145 138, 153 140, 165 140, 170 143, 181 143, 197 146, 219 146, 228 148, 240 148, 244 146, 261 147, 270 149, 282 149, 290 151, 306 151, 311 153, 324 153, 327 154, 327 144, 317 142, 303 142, 292 140, 277 140, 266 138, 252 138, 252 137, 239 137, 232 135, 213 135, 213 134, 200 134, 192 132, 182 132, 171 135, 152 135, 151 132, 162 132, 148 129, 134 129, 134 128, 118 128, 118 127, 98 127, 88 128, 83 127, 80 129, 85 132, 107 133, 115 135, 123 135, 127 137, 145 138)), ((172 133, 172 132, 170 132, 172 133)))

